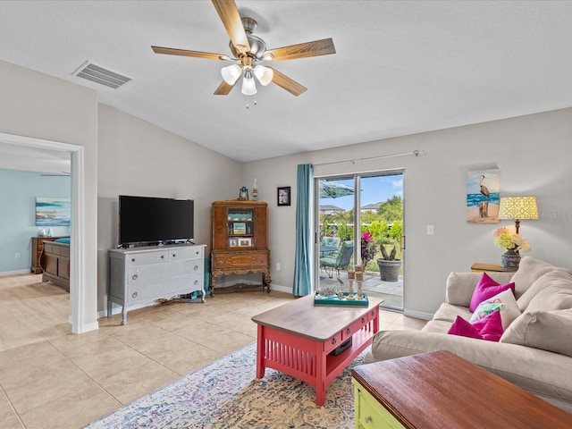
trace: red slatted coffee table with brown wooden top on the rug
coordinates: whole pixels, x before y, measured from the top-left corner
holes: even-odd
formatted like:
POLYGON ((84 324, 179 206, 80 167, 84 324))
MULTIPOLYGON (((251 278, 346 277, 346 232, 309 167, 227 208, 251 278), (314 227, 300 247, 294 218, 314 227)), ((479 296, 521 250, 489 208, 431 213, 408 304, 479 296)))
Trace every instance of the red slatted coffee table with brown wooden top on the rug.
POLYGON ((255 315, 257 378, 265 368, 290 374, 314 386, 315 404, 324 405, 328 385, 371 344, 382 302, 370 297, 368 307, 315 306, 314 295, 308 295, 255 315), (347 349, 331 354, 346 341, 347 349))

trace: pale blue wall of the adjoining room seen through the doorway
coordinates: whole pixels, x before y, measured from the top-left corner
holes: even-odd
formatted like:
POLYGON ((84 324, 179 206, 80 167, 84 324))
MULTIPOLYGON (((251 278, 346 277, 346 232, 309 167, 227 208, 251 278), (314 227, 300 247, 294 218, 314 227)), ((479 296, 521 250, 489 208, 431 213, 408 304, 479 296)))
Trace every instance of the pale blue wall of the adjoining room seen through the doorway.
MULTIPOLYGON (((38 235, 36 197, 71 198, 71 180, 63 176, 42 176, 0 168, 0 273, 29 272, 31 237, 38 235), (16 254, 20 257, 17 258, 16 254)), ((54 236, 70 234, 68 226, 51 228, 54 236)))

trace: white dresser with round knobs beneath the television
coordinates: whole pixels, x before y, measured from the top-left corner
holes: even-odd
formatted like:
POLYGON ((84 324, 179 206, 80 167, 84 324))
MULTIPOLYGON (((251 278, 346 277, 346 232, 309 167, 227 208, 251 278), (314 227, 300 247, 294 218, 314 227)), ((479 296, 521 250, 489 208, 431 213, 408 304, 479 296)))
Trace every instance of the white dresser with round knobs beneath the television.
POLYGON ((130 307, 147 307, 195 291, 205 302, 205 245, 149 246, 109 250, 109 295, 122 306, 122 324, 130 307))

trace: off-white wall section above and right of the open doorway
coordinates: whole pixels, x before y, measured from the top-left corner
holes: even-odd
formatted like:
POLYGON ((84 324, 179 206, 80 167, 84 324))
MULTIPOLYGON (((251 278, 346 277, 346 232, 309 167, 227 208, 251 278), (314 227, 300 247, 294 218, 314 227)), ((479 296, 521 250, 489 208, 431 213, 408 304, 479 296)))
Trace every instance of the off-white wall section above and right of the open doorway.
POLYGON ((97 327, 97 93, 0 61, 0 132, 83 147, 83 326, 97 327))

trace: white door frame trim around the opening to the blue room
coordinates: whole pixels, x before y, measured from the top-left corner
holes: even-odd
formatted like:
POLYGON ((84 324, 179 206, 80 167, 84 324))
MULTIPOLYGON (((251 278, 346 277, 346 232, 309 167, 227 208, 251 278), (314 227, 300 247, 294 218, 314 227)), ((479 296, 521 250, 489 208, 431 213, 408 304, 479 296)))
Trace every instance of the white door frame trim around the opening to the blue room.
POLYGON ((85 162, 84 147, 58 141, 0 133, 0 141, 71 153, 70 315, 72 333, 90 331, 84 325, 85 281, 85 162))

